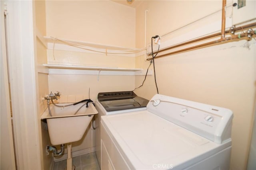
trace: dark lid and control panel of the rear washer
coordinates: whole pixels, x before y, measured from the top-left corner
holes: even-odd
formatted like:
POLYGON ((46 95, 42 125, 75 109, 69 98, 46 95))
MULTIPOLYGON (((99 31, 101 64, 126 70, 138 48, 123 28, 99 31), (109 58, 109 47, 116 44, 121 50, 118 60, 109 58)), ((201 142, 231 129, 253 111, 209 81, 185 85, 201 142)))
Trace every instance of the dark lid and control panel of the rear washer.
POLYGON ((98 101, 106 111, 146 107, 149 102, 132 91, 99 93, 98 101))

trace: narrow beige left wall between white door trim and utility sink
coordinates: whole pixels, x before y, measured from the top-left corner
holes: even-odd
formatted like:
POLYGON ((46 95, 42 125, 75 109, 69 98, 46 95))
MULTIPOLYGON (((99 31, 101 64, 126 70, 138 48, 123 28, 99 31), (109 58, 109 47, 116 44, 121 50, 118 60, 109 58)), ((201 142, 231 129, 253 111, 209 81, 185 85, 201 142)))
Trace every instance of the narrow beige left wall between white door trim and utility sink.
POLYGON ((46 154, 46 147, 50 145, 50 138, 46 122, 41 121, 40 117, 44 110, 47 108, 46 100, 42 98, 49 94, 48 89, 48 74, 46 68, 42 64, 47 63, 47 51, 44 44, 43 35, 46 35, 46 12, 45 12, 45 1, 36 0, 34 1, 34 15, 36 20, 36 75, 37 75, 37 103, 38 103, 38 129, 40 132, 40 154, 41 162, 44 170, 53 168, 53 157, 52 154, 46 154))

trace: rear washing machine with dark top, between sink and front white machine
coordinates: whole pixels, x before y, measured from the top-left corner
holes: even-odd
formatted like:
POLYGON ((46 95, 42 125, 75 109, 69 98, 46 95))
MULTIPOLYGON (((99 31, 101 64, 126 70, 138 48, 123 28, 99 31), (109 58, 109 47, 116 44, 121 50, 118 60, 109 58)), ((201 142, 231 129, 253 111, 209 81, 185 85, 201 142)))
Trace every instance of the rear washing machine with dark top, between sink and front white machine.
POLYGON ((98 110, 96 122, 96 156, 100 163, 100 117, 103 115, 113 115, 128 113, 131 111, 146 110, 148 100, 137 96, 132 91, 124 92, 102 92, 97 96, 95 107, 98 110))

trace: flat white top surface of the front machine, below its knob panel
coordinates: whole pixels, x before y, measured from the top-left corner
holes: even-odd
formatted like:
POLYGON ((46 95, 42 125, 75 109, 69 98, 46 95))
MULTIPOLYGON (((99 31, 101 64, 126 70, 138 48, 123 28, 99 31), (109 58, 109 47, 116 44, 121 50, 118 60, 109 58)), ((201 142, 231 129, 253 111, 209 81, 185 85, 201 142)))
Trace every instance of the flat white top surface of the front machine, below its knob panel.
POLYGON ((231 146, 217 144, 149 111, 101 117, 131 169, 186 168, 231 146))

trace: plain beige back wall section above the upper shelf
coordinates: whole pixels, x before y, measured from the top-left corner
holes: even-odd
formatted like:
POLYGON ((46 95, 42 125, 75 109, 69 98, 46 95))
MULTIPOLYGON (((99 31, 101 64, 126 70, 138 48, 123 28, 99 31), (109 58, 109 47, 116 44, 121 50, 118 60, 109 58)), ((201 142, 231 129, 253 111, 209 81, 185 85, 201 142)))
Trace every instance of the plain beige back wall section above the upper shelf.
POLYGON ((135 47, 135 10, 108 0, 46 1, 47 35, 135 47))

